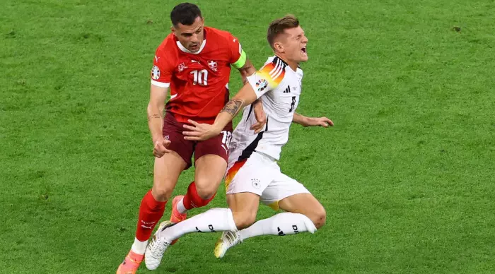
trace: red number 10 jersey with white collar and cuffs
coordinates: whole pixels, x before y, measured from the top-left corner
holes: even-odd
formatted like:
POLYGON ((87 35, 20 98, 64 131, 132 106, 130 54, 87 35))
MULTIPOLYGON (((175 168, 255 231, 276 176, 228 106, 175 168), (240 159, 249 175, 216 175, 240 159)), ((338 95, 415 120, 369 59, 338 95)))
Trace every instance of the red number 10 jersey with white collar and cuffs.
POLYGON ((204 27, 199 51, 190 52, 170 33, 156 49, 151 83, 170 87, 165 105, 175 119, 187 123, 192 119, 213 124, 228 102, 231 64, 238 61, 242 49, 231 33, 204 27))

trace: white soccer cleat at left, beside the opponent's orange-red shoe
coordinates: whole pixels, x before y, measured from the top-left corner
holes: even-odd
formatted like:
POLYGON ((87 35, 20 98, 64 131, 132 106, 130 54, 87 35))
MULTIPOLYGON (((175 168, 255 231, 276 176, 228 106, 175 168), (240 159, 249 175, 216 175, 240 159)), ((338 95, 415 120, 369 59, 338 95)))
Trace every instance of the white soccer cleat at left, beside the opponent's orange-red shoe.
POLYGON ((160 232, 173 225, 175 225, 175 223, 170 221, 161 222, 160 227, 158 227, 158 230, 156 230, 155 234, 148 242, 146 252, 144 253, 144 263, 149 270, 155 270, 160 266, 161 258, 168 246, 170 246, 170 242, 164 237, 160 237, 160 232))

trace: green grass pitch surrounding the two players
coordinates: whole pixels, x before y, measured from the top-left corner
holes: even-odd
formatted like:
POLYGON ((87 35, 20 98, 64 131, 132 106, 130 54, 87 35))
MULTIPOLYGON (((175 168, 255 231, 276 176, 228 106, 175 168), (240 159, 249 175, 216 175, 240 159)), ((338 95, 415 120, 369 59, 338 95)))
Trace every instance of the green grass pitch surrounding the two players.
MULTIPOLYGON (((1 1, 0 273, 115 273, 151 187, 149 71, 178 3, 1 1)), ((279 164, 327 225, 222 260, 219 234, 190 234, 155 273, 495 272, 493 0, 197 4, 258 68, 269 22, 300 18, 310 61, 297 111, 335 127, 294 125, 279 164)), ((221 186, 211 206, 225 205, 221 186)))

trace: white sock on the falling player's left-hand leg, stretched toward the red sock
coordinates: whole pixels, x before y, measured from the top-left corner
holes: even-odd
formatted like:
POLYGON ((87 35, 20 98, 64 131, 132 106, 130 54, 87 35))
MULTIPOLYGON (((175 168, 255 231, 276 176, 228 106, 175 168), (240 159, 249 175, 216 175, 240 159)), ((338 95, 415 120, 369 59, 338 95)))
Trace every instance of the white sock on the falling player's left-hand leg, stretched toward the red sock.
POLYGON ((230 208, 211 208, 160 232, 169 242, 191 232, 237 231, 230 208))

